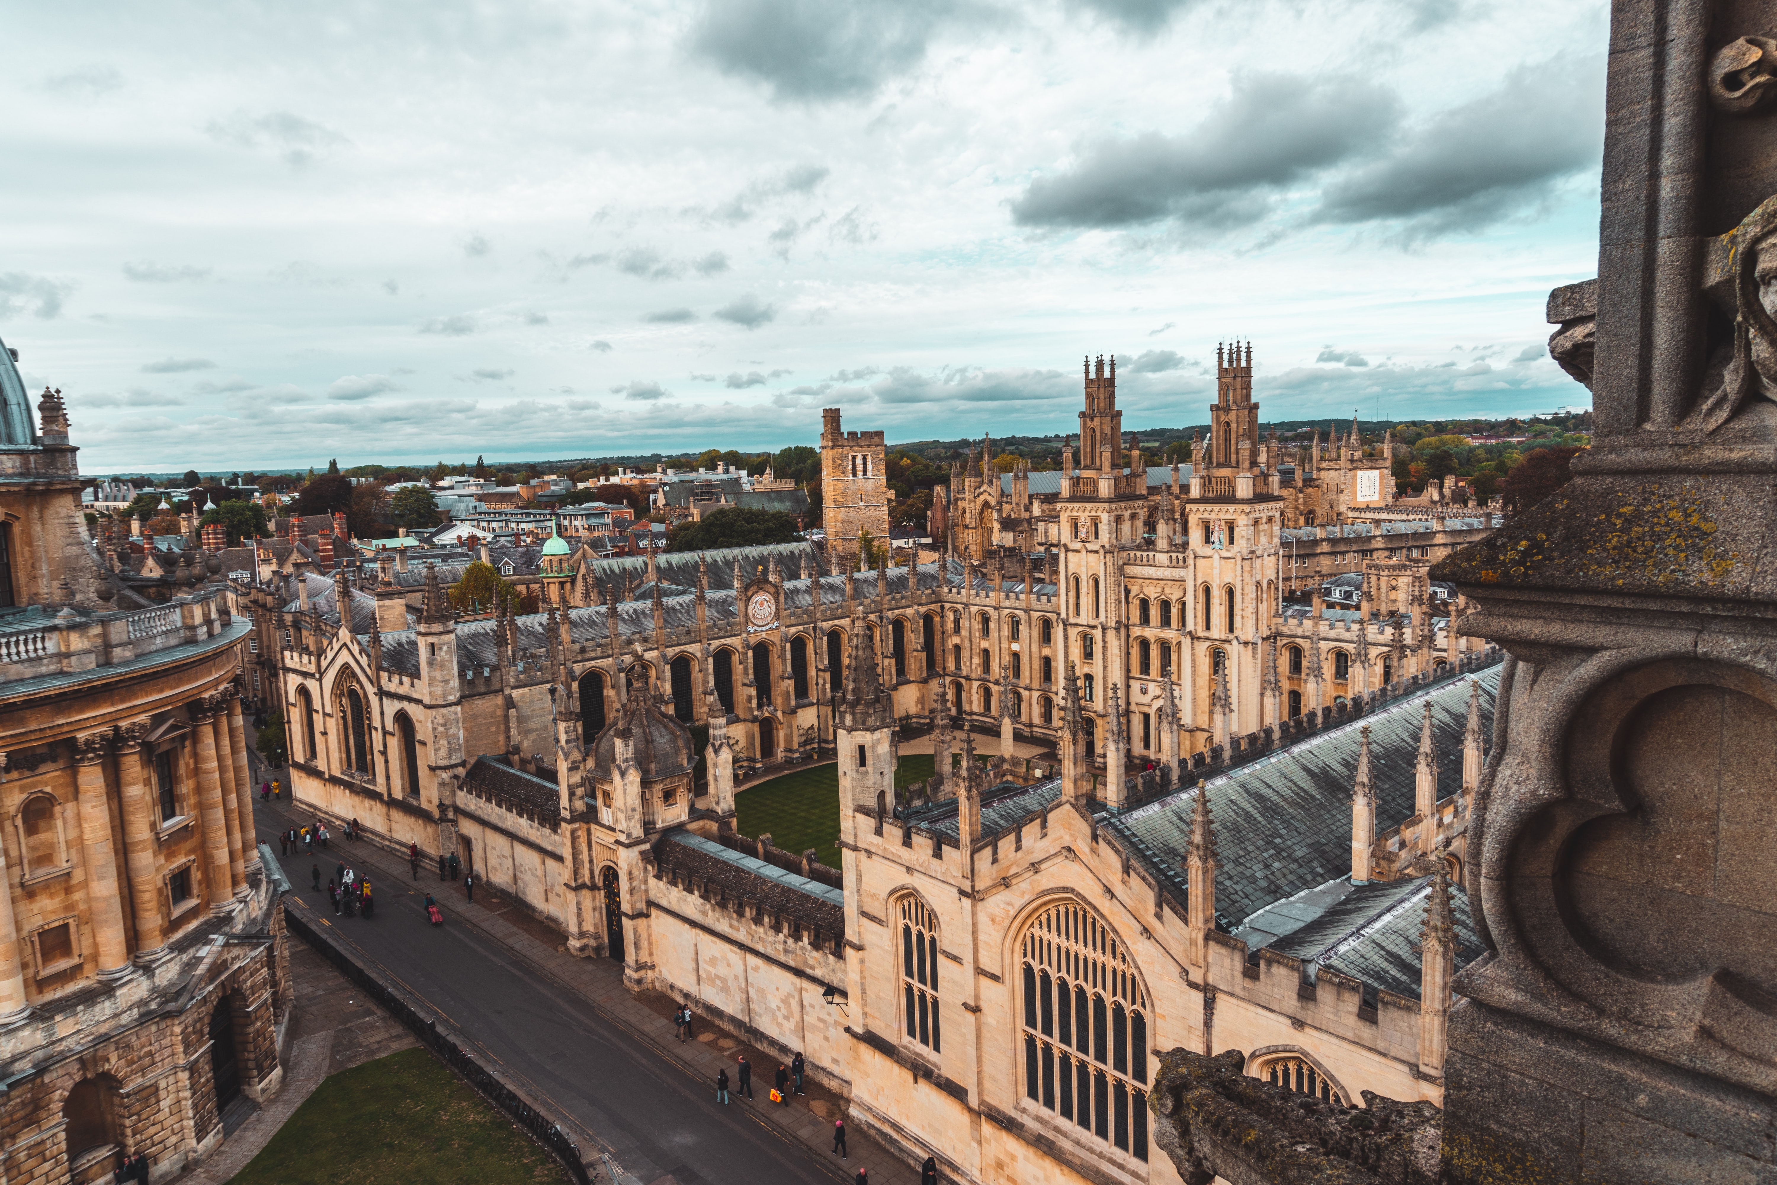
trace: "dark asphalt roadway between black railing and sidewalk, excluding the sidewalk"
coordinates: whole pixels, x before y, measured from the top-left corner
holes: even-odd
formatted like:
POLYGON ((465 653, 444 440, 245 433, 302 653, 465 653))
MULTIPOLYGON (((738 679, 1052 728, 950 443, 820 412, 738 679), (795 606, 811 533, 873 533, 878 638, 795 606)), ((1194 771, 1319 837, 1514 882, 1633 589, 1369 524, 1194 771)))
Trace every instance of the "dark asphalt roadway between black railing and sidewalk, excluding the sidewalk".
MULTIPOLYGON (((275 851, 286 824, 259 801, 254 823, 275 851)), ((363 853, 345 847, 316 853, 323 883, 339 860, 364 867, 363 853)), ((387 853, 377 860, 391 867, 398 862, 387 853)), ((826 1164, 739 1103, 716 1103, 714 1084, 702 1073, 693 1078, 672 1050, 519 959, 460 915, 428 926, 426 879, 416 885, 405 876, 375 876, 375 917, 334 919, 325 894, 307 888, 304 863, 307 858, 284 862, 295 885, 288 908, 332 926, 366 965, 451 1023, 515 1086, 570 1116, 581 1126, 574 1135, 588 1160, 594 1149, 604 1151, 643 1185, 849 1185, 851 1171, 837 1158, 826 1164)))

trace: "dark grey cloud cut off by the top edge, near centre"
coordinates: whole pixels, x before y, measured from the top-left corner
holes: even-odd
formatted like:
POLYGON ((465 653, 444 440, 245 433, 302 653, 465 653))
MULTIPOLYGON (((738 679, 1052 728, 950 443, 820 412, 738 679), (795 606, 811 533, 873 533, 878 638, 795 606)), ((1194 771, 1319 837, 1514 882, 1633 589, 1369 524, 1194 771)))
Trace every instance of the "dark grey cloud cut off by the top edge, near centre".
POLYGON ((945 0, 711 0, 691 48, 778 99, 865 98, 926 57, 945 0))

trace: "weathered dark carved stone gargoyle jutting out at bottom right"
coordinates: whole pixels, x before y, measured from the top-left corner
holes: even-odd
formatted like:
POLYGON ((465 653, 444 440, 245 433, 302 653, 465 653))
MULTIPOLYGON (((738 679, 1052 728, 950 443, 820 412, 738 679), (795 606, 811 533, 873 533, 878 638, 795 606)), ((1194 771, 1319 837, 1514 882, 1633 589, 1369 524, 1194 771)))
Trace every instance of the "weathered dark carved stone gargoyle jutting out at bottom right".
POLYGON ((1153 1141, 1185 1185, 1434 1185, 1443 1112, 1370 1091, 1363 1107, 1244 1073, 1246 1054, 1160 1055, 1153 1141))

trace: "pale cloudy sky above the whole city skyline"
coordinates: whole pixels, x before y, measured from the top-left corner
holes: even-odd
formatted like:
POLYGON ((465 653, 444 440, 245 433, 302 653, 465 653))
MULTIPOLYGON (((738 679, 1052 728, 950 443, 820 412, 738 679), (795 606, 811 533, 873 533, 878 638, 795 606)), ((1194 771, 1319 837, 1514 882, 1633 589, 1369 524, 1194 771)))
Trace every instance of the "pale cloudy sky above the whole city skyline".
POLYGON ((1587 402, 1601 0, 18 5, 0 338, 87 473, 1587 402), (1208 364, 1208 370, 1205 370, 1208 364))

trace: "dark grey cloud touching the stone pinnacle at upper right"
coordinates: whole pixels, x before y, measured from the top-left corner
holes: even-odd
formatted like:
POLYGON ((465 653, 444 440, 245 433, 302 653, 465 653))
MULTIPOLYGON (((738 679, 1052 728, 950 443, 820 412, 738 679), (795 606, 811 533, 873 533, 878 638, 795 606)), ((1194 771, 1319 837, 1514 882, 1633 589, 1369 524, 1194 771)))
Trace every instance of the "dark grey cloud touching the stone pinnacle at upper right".
POLYGON ((1432 115, 1322 194, 1320 222, 1398 222, 1406 240, 1478 231, 1534 210, 1603 151, 1603 60, 1512 69, 1498 91, 1432 115))

